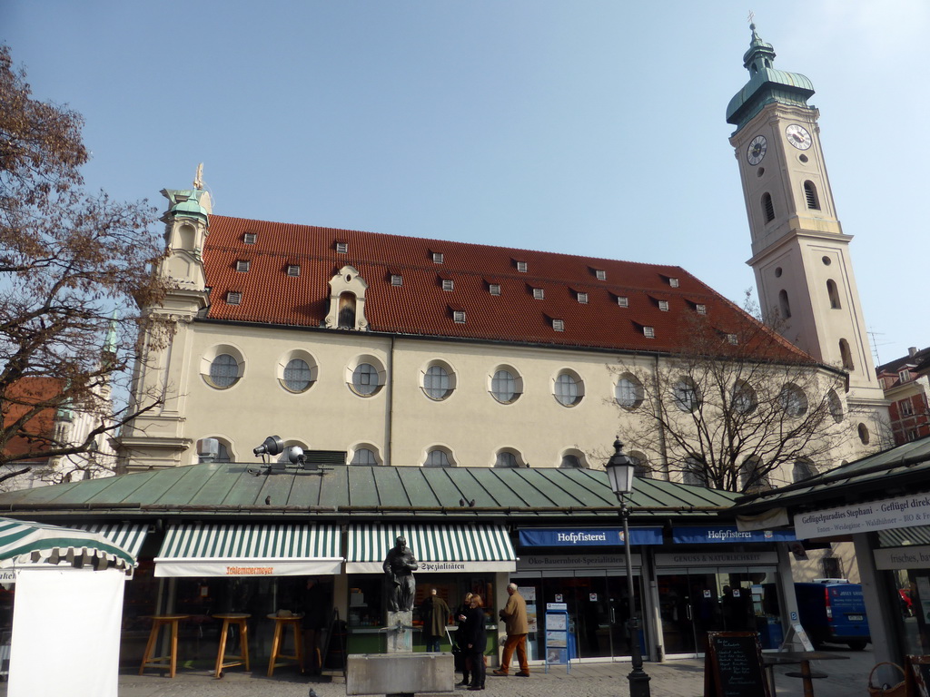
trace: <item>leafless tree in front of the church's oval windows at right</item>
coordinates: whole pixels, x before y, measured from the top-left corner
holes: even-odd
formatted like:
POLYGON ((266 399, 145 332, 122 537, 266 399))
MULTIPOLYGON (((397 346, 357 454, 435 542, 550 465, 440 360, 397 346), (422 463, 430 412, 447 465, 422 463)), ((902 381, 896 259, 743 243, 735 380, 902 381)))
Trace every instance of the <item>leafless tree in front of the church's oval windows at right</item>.
POLYGON ((677 354, 611 368, 629 412, 625 440, 650 463, 688 483, 752 492, 795 466, 816 473, 849 438, 843 371, 818 365, 749 313, 727 329, 696 315, 680 331, 677 354))

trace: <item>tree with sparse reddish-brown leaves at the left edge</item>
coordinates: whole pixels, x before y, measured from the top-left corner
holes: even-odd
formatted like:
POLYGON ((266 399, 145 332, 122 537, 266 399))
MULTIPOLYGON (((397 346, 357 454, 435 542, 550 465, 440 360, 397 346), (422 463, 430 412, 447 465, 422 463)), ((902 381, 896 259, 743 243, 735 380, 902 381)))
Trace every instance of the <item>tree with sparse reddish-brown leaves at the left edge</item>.
POLYGON ((139 309, 165 296, 164 246, 146 202, 84 191, 81 116, 31 95, 0 46, 0 466, 68 456, 92 472, 100 439, 158 401, 110 407, 145 358, 140 336, 166 338, 139 309), (77 441, 48 427, 63 410, 95 415, 77 441))

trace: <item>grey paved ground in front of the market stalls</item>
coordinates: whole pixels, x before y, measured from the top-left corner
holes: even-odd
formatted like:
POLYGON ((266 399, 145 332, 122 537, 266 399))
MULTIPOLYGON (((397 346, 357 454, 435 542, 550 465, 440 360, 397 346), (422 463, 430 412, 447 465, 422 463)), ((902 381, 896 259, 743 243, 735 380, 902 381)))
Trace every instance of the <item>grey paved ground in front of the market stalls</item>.
MULTIPOLYGON (((817 697, 867 697, 867 681, 875 664, 871 647, 866 651, 835 651, 850 660, 822 661, 814 670, 830 677, 815 682, 817 697)), ((702 697, 704 694, 703 661, 669 661, 664 664, 645 664, 651 677, 654 697, 702 697)), ((802 697, 801 680, 786 677, 797 666, 776 669, 777 697, 802 697)), ((531 666, 532 675, 523 677, 487 677, 484 697, 626 697, 629 695, 627 675, 630 664, 572 665, 551 668, 549 674, 540 666, 531 666)), ((217 680, 206 671, 183 670, 174 679, 152 672, 139 676, 126 672, 120 677, 119 697, 308 697, 310 689, 318 697, 345 697, 342 677, 308 678, 298 676, 293 669, 280 668, 274 677, 265 677, 263 671, 251 674, 239 668, 217 680)), ((459 697, 471 692, 457 690, 459 697)), ((0 683, 0 697, 6 697, 6 683, 0 683)))

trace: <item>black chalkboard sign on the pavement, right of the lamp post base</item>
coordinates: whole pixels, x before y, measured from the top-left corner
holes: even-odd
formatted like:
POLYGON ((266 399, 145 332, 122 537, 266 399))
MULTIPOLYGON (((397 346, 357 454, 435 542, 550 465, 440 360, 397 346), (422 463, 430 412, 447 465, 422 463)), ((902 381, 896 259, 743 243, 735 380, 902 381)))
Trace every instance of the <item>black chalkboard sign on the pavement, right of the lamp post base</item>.
POLYGON ((704 697, 772 697, 756 632, 708 632, 704 697))

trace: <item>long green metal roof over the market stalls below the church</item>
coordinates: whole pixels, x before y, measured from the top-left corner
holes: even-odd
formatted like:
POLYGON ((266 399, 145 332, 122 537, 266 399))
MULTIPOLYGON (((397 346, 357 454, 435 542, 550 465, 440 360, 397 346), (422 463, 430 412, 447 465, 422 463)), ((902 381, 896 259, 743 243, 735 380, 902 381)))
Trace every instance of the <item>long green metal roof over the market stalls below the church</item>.
MULTIPOLYGON (((500 467, 331 467, 254 476, 209 463, 0 493, 0 515, 349 519, 565 519, 618 515, 603 470, 500 467), (473 506, 471 505, 473 502, 473 506)), ((714 518, 737 493, 637 479, 633 519, 714 518)))

